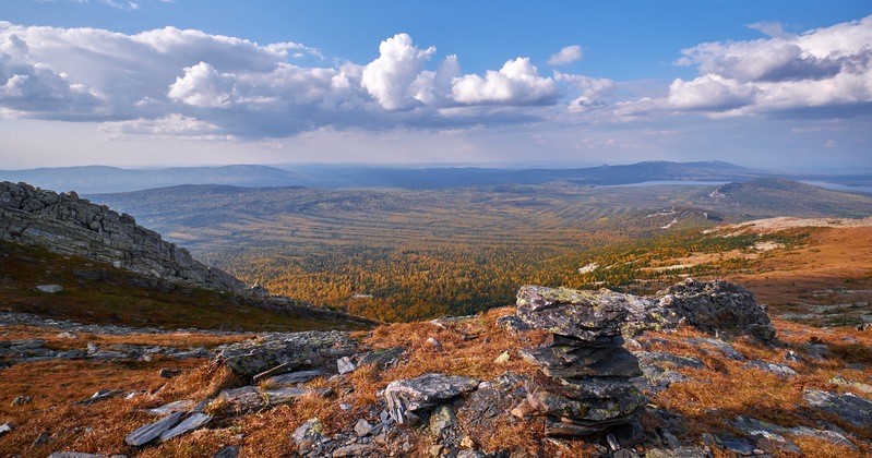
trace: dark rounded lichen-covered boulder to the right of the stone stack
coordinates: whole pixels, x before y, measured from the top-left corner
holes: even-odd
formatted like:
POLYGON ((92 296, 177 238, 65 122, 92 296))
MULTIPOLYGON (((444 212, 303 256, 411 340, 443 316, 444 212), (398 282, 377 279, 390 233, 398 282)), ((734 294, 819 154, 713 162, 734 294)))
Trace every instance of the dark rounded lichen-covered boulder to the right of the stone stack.
POLYGON ((775 338, 766 310, 757 304, 751 291, 739 285, 688 278, 658 292, 657 298, 659 308, 698 329, 745 334, 763 341, 775 338))

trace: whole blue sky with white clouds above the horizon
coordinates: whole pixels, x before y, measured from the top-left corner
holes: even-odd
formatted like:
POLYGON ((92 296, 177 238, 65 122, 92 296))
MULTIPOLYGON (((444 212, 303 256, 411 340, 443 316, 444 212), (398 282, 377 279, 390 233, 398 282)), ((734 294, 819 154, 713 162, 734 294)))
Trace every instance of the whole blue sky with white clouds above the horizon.
POLYGON ((2 0, 0 169, 872 171, 872 2, 2 0))

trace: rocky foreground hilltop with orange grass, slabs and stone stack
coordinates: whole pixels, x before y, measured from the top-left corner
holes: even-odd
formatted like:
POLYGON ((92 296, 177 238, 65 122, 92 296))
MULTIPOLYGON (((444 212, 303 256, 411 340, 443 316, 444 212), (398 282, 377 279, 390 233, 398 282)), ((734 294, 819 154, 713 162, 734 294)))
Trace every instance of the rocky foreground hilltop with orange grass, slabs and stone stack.
POLYGON ((3 455, 872 453, 872 337, 775 326, 722 281, 524 287, 516 309, 356 334, 37 320, 2 316, 3 455))

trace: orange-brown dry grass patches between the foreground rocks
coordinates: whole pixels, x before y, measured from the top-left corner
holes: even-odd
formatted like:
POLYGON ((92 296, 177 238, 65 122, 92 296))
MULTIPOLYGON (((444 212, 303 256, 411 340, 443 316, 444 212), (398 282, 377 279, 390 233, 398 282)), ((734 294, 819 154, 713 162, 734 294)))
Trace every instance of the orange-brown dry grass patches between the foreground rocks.
MULTIPOLYGON (((327 396, 307 395, 291 405, 240 417, 217 418, 208 427, 159 446, 141 450, 146 457, 200 457, 208 456, 225 445, 241 448, 244 457, 277 457, 295 453, 289 439, 296 427, 311 418, 318 418, 325 434, 347 431, 359 418, 371 422, 371 408, 379 400, 378 391, 391 381, 415 377, 428 372, 441 372, 493 378, 504 372, 531 375, 536 367, 522 360, 517 350, 541 343, 545 333, 528 332, 513 335, 495 325, 497 318, 513 313, 514 309, 497 309, 478 316, 434 323, 394 324, 378 327, 369 334, 358 334, 362 345, 372 349, 403 347, 406 353, 398 364, 386 370, 362 366, 345 377, 319 377, 309 387, 331 388, 327 396), (439 351, 427 342, 429 337, 438 339, 439 351), (509 351, 507 363, 493 360, 509 351), (339 403, 350 406, 343 410, 339 403)), ((695 444, 704 432, 736 434, 729 422, 738 415, 752 417, 784 426, 807 425, 820 427, 826 420, 847 430, 856 438, 872 439, 872 431, 858 429, 828 418, 805 407, 802 393, 808 387, 856 391, 850 386, 832 385, 829 381, 839 374, 848 379, 865 382, 872 369, 845 369, 849 362, 869 362, 872 349, 872 333, 852 328, 820 329, 788 322, 775 322, 783 347, 767 347, 752 340, 736 339, 731 343, 749 359, 788 364, 800 373, 790 379, 773 374, 746 370, 743 362, 720 355, 712 348, 690 345, 688 339, 706 337, 689 328, 676 333, 649 333, 641 338, 648 340, 653 350, 700 358, 706 369, 678 369, 691 377, 690 382, 673 384, 668 390, 654 396, 650 401, 670 412, 680 413, 686 420, 686 431, 677 432, 683 442, 695 444), (660 340, 662 339, 662 340, 660 340), (785 362, 786 351, 793 349, 808 355, 803 345, 822 342, 833 350, 827 360, 805 359, 802 362, 785 362), (707 351, 706 351, 707 350, 707 351)), ((26 328, 15 329, 15 338, 25 337, 26 328)), ((111 339, 109 336, 95 336, 111 339)), ((148 337, 134 336, 143 343, 148 337)), ((193 336, 192 338, 198 338, 193 336)), ((109 341, 109 340, 100 340, 109 341)), ((0 441, 0 455, 22 453, 26 456, 46 456, 57 449, 104 454, 132 454, 123 445, 123 436, 133 429, 152 420, 142 409, 179 399, 202 400, 215 396, 220 389, 237 386, 239 381, 219 364, 203 360, 182 362, 43 362, 22 364, 2 371, 0 379, 0 422, 13 421, 16 429, 0 441), (182 375, 166 381, 159 378, 157 370, 163 366, 184 369, 182 375), (115 398, 94 406, 76 406, 74 401, 89 397, 106 388, 143 390, 131 400, 115 398), (34 396, 28 405, 10 407, 17 395, 34 396), (33 447, 31 444, 43 432, 52 433, 49 446, 33 447)), ((860 394, 860 393, 858 393, 860 394)), ((865 395, 868 396, 868 395, 865 395)), ((649 415, 648 415, 649 417, 649 415)), ((652 426, 650 418, 644 421, 652 426)), ((458 412, 462 429, 467 421, 458 412)), ((466 429, 463 434, 481 449, 510 448, 523 450, 527 456, 590 456, 592 445, 584 441, 551 442, 543 439, 541 419, 521 421, 501 415, 488 429, 466 429)), ((413 444, 410 455, 426 455, 433 438, 426 429, 406 430, 413 444)), ((849 456, 849 450, 826 444, 820 439, 790 437, 808 456, 849 456)), ((397 447, 391 444, 389 447, 397 447)), ((861 445, 861 454, 872 454, 861 445)), ((718 456, 724 456, 720 450, 718 456)))

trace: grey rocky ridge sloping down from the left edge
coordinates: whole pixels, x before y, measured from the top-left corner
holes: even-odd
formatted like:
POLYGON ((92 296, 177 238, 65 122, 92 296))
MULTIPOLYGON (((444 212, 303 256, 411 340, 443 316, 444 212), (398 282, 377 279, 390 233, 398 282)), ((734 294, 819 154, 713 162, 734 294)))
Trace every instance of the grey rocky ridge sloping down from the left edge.
POLYGON ((244 293, 246 285, 195 261, 188 250, 136 225, 132 216, 26 183, 0 182, 0 240, 77 255, 139 274, 244 293))

